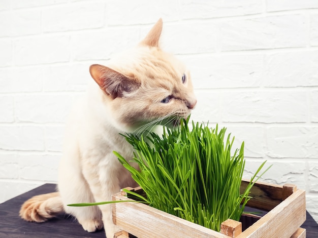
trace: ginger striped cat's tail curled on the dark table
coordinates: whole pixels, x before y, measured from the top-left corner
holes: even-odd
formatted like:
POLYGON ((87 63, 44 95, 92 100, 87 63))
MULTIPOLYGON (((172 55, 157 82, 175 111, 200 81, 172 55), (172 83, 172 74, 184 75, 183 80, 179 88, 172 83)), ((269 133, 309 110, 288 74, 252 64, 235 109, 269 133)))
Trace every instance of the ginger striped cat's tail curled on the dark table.
POLYGON ((44 222, 64 211, 59 192, 31 197, 20 209, 20 217, 26 221, 44 222))

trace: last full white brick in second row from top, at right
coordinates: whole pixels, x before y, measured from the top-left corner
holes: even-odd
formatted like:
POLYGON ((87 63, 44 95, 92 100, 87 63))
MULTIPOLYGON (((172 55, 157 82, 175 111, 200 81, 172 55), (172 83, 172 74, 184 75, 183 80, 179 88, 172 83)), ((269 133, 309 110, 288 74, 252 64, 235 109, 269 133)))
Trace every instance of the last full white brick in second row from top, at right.
POLYGON ((229 20, 219 24, 221 50, 257 50, 307 46, 304 15, 281 15, 229 20))

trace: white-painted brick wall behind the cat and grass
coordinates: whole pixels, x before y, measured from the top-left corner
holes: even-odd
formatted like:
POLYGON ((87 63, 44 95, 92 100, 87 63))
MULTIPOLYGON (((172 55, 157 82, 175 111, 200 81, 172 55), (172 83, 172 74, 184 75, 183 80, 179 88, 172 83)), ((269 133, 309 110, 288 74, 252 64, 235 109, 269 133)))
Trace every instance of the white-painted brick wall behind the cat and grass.
POLYGON ((56 182, 64 121, 88 67, 164 19, 192 70, 193 119, 245 141, 246 173, 306 190, 318 221, 316 0, 0 0, 0 202, 56 182))

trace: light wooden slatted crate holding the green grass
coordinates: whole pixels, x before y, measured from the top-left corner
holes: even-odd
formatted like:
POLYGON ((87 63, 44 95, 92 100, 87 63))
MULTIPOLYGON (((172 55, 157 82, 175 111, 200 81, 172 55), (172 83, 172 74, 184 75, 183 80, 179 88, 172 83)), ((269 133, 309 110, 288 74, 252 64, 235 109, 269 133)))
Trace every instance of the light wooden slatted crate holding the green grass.
MULTIPOLYGON (((242 181, 241 193, 245 190, 248 182, 247 180, 242 181)), ((133 190, 135 192, 142 191, 141 188, 133 190)), ((115 234, 115 237, 306 237, 306 230, 300 228, 306 220, 304 190, 297 189, 292 184, 280 186, 258 182, 252 187, 249 195, 252 196, 252 199, 246 206, 268 211, 268 213, 263 217, 242 216, 243 227, 248 227, 244 231, 242 231, 241 222, 231 219, 223 222, 221 231, 217 232, 145 204, 127 202, 112 204, 113 223, 122 229, 115 234), (255 219, 257 221, 245 224, 248 223, 249 218, 252 218, 254 222, 255 219)), ((112 199, 113 201, 129 200, 123 191, 114 194, 112 199)))

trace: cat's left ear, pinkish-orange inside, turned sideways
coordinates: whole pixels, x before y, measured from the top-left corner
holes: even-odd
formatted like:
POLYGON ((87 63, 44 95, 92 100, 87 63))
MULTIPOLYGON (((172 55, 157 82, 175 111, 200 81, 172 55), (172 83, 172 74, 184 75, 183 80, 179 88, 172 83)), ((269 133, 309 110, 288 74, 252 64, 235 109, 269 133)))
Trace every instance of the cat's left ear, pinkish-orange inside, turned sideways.
POLYGON ((140 86, 140 83, 134 78, 126 77, 122 73, 103 65, 91 65, 89 73, 100 88, 113 99, 122 97, 124 93, 131 93, 140 86))

